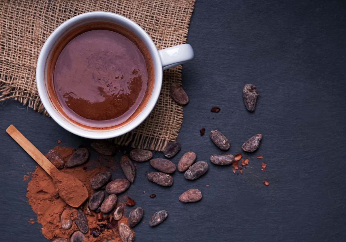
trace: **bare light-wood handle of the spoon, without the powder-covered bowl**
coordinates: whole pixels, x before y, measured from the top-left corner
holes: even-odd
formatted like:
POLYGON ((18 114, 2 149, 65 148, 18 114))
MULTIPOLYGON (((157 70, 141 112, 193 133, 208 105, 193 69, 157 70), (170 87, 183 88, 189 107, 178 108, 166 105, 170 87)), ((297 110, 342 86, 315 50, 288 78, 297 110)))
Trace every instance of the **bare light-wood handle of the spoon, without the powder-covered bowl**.
POLYGON ((49 174, 57 169, 30 141, 24 137, 12 124, 6 132, 49 174))

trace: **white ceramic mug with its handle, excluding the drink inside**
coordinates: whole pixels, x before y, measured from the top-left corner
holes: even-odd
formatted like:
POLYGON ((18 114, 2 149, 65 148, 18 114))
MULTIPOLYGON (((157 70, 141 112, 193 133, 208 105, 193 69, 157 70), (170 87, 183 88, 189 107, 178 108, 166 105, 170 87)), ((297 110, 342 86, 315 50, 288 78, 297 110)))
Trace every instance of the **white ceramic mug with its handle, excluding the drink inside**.
POLYGON ((142 123, 153 110, 160 95, 162 86, 162 71, 192 60, 193 57, 194 53, 189 44, 181 44, 163 50, 157 50, 151 37, 149 37, 149 35, 138 24, 124 16, 110 12, 87 12, 65 21, 47 38, 37 60, 36 84, 40 99, 45 109, 61 127, 81 137, 90 139, 108 139, 125 134, 142 123), (99 21, 118 24, 130 30, 138 38, 140 38, 151 55, 155 74, 153 91, 142 111, 130 122, 125 122, 115 128, 105 130, 89 129, 71 122, 71 120, 66 118, 65 115, 63 115, 55 107, 55 104, 52 102, 52 98, 50 97, 47 85, 47 82, 49 81, 47 79, 48 62, 52 56, 52 52, 56 47, 56 44, 61 41, 67 33, 76 27, 81 26, 82 24, 99 21))

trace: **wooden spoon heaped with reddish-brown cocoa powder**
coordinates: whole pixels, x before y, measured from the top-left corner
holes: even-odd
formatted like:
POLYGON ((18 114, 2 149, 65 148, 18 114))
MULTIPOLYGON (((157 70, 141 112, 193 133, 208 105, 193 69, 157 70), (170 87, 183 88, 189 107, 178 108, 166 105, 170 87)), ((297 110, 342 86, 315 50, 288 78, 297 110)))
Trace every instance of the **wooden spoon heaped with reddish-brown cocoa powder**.
POLYGON ((70 174, 59 171, 12 124, 6 132, 52 177, 60 197, 70 206, 79 207, 88 198, 84 184, 70 174))

